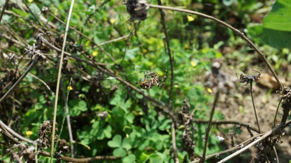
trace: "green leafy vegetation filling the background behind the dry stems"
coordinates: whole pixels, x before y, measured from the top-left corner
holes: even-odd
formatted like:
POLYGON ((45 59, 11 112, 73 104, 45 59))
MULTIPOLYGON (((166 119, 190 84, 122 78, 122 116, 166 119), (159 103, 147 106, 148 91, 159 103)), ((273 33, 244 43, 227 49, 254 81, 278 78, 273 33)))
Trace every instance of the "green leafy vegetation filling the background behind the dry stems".
MULTIPOLYGON (((77 0, 70 21, 70 26, 92 38, 95 43, 128 35, 134 28, 134 24, 129 22, 130 16, 126 11, 126 6, 122 4, 121 0, 109 0, 102 7, 99 7, 103 1, 77 0)), ((3 3, 4 0, 0 0, 0 6, 3 3)), ((22 2, 20 1, 20 3, 22 2)), ((153 0, 151 3, 157 4, 157 0, 153 0)), ((230 23, 245 32, 260 46, 261 50, 268 55, 268 60, 275 66, 277 72, 280 71, 280 65, 290 64, 291 2, 289 0, 277 0, 271 13, 265 18, 264 16, 270 12, 272 7, 269 0, 162 0, 162 3, 163 5, 200 11, 230 23)), ((38 18, 42 7, 46 6, 52 14, 64 22, 67 19, 69 4, 69 0, 28 0, 30 9, 38 18)), ((7 27, 12 28, 32 45, 34 36, 38 33, 37 29, 30 24, 31 22, 37 24, 35 18, 30 13, 23 12, 17 5, 12 5, 8 10, 22 18, 5 14, 1 26, 7 25, 7 27)), ((195 118, 208 120, 207 115, 213 101, 213 95, 205 90, 201 77, 210 70, 211 61, 215 58, 225 62, 227 59, 237 60, 236 65, 229 64, 227 66, 233 71, 241 72, 246 70, 252 60, 258 59, 258 56, 253 54, 254 52, 239 36, 211 20, 179 12, 165 11, 165 13, 171 50, 175 60, 172 97, 174 108, 181 107, 183 100, 188 99, 191 104, 190 111, 196 109, 195 118), (222 53, 224 47, 230 47, 232 50, 227 54, 222 53)), ((51 32, 56 38, 64 33, 65 25, 49 15, 43 14, 43 16, 58 27, 57 30, 51 32)), ((132 84, 143 80, 143 70, 155 71, 162 75, 164 69, 160 64, 164 65, 170 72, 169 57, 163 41, 164 33, 159 11, 156 9, 149 10, 148 18, 140 23, 136 35, 129 41, 128 48, 126 48, 127 39, 104 46, 104 49, 116 58, 117 63, 121 62, 122 56, 125 54, 122 70, 117 70, 117 67, 112 66, 110 58, 98 48, 93 48, 92 43, 87 39, 72 30, 69 30, 68 35, 67 42, 73 42, 76 46, 83 45, 84 50, 89 52, 96 61, 106 63, 108 66, 111 65, 112 70, 116 70, 116 73, 132 84)), ((1 37, 1 42, 7 42, 7 40, 1 37)), ((23 48, 20 49, 13 45, 9 49, 19 54, 24 52, 23 48)), ((69 51, 69 48, 67 50, 69 51)), ((86 59, 80 52, 75 52, 75 54, 86 59)), ((40 73, 35 69, 31 72, 44 80, 52 91, 55 90, 58 67, 56 66, 58 59, 54 59, 55 65, 50 62, 45 62, 43 66, 38 65, 38 69, 46 73, 40 73)), ((74 71, 63 74, 62 80, 64 90, 67 91, 70 77, 73 78, 68 108, 73 137, 76 140, 75 152, 78 157, 114 155, 122 157, 123 163, 174 162, 171 144, 171 120, 157 111, 156 107, 158 106, 146 102, 147 107, 142 107, 143 97, 128 90, 117 80, 106 79, 110 76, 70 59, 68 64, 72 65, 74 71), (80 69, 91 76, 102 77, 88 82, 81 78, 83 74, 80 69), (115 85, 118 89, 110 95, 109 92, 115 85), (108 111, 108 117, 99 118, 97 113, 100 111, 108 111)), ((13 68, 12 64, 9 66, 13 68)), ((0 75, 3 75, 3 72, 0 75)), ((170 73, 168 73, 164 88, 154 87, 144 92, 167 103, 169 86, 170 73)), ((13 128, 29 139, 35 140, 38 138, 38 129, 42 122, 52 119, 54 97, 42 84, 29 75, 20 87, 24 87, 17 91, 21 97, 18 100, 22 105, 17 109, 15 115, 11 115, 11 112, 6 110, 7 118, 17 115, 19 120, 13 128), (25 88, 27 85, 34 87, 25 88)), ((58 128, 61 127, 64 112, 62 95, 59 104, 58 128)), ((221 113, 215 113, 214 119, 223 118, 221 113)), ((195 124, 195 127, 195 154, 200 156, 203 150, 202 138, 206 126, 195 124)), ((215 133, 216 130, 216 128, 212 128, 211 132, 215 133)), ((176 134, 180 161, 186 155, 186 152, 181 150, 182 131, 183 126, 180 126, 176 134)), ((228 132, 228 129, 225 129, 225 132, 228 132)), ((66 139, 67 142, 69 140, 66 124, 61 138, 66 139)), ((215 134, 211 134, 207 154, 222 149, 215 134)), ((9 153, 5 147, 0 148, 0 155, 4 160, 9 161, 9 153)), ((46 162, 48 158, 41 157, 40 160, 46 162)))

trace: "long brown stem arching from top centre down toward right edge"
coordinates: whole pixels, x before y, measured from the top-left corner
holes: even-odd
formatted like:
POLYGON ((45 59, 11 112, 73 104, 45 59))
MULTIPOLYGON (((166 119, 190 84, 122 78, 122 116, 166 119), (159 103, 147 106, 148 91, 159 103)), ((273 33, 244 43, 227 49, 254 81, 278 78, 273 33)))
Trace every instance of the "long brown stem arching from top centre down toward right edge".
POLYGON ((178 12, 184 12, 184 13, 189 13, 189 14, 194 14, 194 15, 198 15, 201 16, 203 18, 208 18, 211 19, 215 22, 218 22, 219 24, 222 24, 223 26, 231 29, 232 31, 236 32, 239 36, 241 36, 242 39, 246 40, 246 42, 249 44, 250 47, 252 47, 259 55, 260 57, 263 59, 263 61, 266 63, 266 65, 268 66, 270 72, 273 74, 274 78, 276 79, 277 83, 280 86, 280 89, 283 89, 283 85, 282 83, 279 81, 278 76, 276 74, 276 72, 272 69, 271 65, 269 64, 269 62, 267 61, 265 54, 263 54, 258 47, 256 47, 256 45, 250 40, 248 39, 244 33, 240 32, 238 29, 234 28, 233 26, 227 24, 226 22, 218 19, 218 18, 214 18, 211 17, 209 15, 206 14, 202 14, 200 12, 196 12, 196 11, 192 11, 192 10, 187 10, 187 9, 181 9, 181 8, 175 8, 175 7, 168 7, 168 6, 159 6, 159 5, 154 5, 154 4, 147 4, 149 7, 151 8, 158 8, 158 9, 165 9, 165 10, 172 10, 172 11, 178 11, 178 12))

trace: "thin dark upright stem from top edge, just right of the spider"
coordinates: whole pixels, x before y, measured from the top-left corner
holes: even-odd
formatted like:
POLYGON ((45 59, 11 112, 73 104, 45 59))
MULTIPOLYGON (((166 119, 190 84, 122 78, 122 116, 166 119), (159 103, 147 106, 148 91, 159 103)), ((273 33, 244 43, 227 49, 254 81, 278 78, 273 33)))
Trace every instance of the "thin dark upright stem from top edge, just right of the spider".
MULTIPOLYGON (((161 1, 157 0, 157 4, 159 6, 161 6, 161 1)), ((164 34, 165 34, 165 40, 166 40, 166 46, 167 46, 167 51, 168 51, 168 55, 169 55, 169 59, 170 59, 170 65, 171 65, 171 86, 170 86, 170 92, 169 92, 169 99, 168 102, 170 102, 171 98, 172 98, 172 91, 173 91, 173 81, 174 81, 174 67, 173 67, 173 57, 171 55, 171 48, 170 48, 170 40, 169 40, 169 35, 168 35, 168 31, 167 31, 167 26, 165 23, 165 13, 163 12, 162 9, 159 9, 160 12, 160 16, 161 16, 161 23, 163 25, 163 30, 164 30, 164 34)))

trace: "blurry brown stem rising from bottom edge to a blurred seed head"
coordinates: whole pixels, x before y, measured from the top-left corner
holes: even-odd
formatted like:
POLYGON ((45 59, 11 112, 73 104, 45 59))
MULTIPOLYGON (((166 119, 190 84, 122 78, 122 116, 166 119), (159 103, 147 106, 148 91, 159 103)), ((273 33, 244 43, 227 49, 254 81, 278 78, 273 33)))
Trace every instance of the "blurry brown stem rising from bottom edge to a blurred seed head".
POLYGON ((210 129, 211 129, 212 118, 213 118, 213 114, 214 114, 214 111, 215 111, 215 107, 216 107, 216 104, 217 104, 218 98, 219 98, 219 90, 217 90, 217 92, 216 92, 216 94, 215 94, 215 99, 214 99, 213 107, 212 107, 212 109, 211 109, 211 114, 210 114, 210 119, 209 119, 209 122, 208 122, 208 127, 207 127, 207 129, 206 129, 206 136, 205 136, 205 144, 204 144, 204 148, 203 148, 203 154, 202 154, 202 157, 200 158, 199 163, 204 163, 204 160, 205 160, 205 155, 206 155, 206 148, 207 148, 207 143, 208 143, 209 132, 210 132, 210 129))

